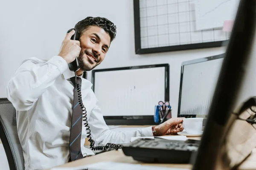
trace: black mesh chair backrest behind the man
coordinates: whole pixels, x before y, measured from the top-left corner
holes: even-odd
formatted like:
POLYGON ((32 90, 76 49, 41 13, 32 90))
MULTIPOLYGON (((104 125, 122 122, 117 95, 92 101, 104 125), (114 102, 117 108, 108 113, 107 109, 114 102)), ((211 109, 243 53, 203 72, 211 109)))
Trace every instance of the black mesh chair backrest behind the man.
POLYGON ((16 110, 6 98, 0 98, 0 139, 10 170, 24 170, 23 151, 17 133, 16 110))

